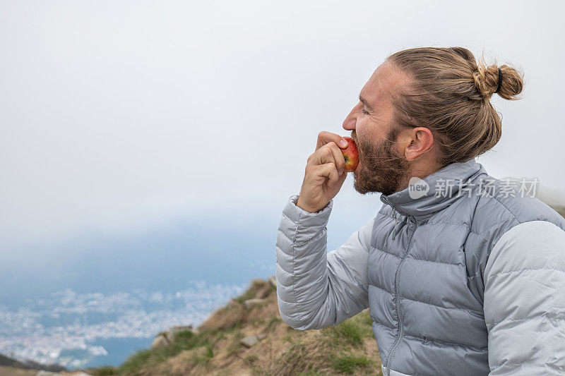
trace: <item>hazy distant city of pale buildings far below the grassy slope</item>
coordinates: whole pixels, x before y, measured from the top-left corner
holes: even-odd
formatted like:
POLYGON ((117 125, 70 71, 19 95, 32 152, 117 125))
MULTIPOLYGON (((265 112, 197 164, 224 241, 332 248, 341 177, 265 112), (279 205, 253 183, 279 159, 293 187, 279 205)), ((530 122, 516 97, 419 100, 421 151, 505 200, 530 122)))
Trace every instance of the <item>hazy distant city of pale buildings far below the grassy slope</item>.
POLYGON ((69 369, 119 365, 169 327, 200 325, 248 284, 198 280, 189 281, 182 291, 167 293, 65 289, 28 299, 18 308, 0 304, 0 353, 69 369))

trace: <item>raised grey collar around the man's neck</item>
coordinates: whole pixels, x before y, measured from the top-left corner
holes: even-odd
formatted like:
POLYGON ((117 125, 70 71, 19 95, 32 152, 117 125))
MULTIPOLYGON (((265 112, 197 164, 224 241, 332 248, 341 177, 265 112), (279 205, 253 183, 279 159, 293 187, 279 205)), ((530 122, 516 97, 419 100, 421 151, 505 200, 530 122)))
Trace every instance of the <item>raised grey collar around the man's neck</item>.
POLYGON ((391 195, 382 193, 381 201, 407 217, 424 219, 444 210, 460 195, 468 195, 467 192, 459 193, 459 190, 464 190, 480 174, 487 174, 487 171, 475 158, 467 162, 455 162, 417 182, 411 181, 408 188, 391 195))

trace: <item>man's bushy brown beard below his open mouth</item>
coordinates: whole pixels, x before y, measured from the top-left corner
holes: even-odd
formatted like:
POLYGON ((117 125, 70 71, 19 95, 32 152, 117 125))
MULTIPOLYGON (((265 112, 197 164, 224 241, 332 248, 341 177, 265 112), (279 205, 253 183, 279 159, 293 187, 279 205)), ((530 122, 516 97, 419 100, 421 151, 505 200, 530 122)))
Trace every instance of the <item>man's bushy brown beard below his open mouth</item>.
POLYGON ((380 192, 385 195, 395 193, 408 176, 410 163, 399 154, 396 148, 398 129, 391 129, 380 145, 367 140, 358 140, 355 130, 351 138, 357 143, 361 170, 354 176, 353 186, 362 195, 380 192))

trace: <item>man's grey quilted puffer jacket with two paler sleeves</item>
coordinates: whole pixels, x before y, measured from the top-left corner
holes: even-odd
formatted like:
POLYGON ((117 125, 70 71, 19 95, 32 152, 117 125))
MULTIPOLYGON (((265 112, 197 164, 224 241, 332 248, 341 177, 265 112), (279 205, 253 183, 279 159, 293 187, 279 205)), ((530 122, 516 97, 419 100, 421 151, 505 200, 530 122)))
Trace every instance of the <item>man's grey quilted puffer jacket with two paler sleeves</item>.
MULTIPOLYGON (((475 159, 381 195, 376 217, 327 253, 333 200, 288 200, 278 306, 295 329, 369 308, 385 375, 565 375, 565 220, 475 159)), ((531 192, 530 192, 531 194, 531 192)))

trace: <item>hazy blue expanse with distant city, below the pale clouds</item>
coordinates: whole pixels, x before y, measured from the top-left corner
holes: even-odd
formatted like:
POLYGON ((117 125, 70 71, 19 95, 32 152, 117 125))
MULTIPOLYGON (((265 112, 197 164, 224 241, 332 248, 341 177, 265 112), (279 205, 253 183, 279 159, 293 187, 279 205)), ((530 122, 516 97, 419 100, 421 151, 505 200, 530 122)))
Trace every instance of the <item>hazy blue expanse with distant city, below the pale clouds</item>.
POLYGON ((0 353, 69 370, 121 365, 275 274, 276 235, 276 223, 189 223, 14 252, 0 265, 0 353))

